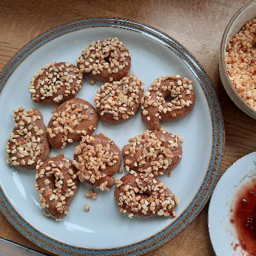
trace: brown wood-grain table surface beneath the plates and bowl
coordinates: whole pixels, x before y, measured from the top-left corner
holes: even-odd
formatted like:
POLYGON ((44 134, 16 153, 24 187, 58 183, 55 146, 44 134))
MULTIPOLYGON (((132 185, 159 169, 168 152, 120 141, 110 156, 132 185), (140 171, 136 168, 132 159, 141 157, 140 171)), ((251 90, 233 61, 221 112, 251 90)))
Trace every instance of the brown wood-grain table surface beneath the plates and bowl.
MULTIPOLYGON (((161 29, 183 44, 211 77, 225 122, 226 143, 222 166, 225 172, 228 166, 256 147, 256 136, 253 136, 256 121, 241 112, 228 98, 218 72, 219 48, 224 29, 232 15, 248 2, 1 0, 0 70, 29 40, 63 22, 87 17, 124 17, 161 29)), ((149 255, 214 255, 207 229, 207 211, 208 205, 184 232, 149 255)), ((0 237, 42 251, 22 237, 2 214, 0 237)))

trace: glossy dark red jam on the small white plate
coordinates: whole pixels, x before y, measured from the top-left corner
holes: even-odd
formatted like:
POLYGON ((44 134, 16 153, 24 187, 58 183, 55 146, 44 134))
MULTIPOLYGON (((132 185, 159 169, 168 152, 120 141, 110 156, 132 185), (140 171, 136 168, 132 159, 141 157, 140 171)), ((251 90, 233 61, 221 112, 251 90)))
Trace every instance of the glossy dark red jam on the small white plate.
POLYGON ((236 227, 239 246, 256 256, 256 179, 239 191, 230 222, 236 227))

